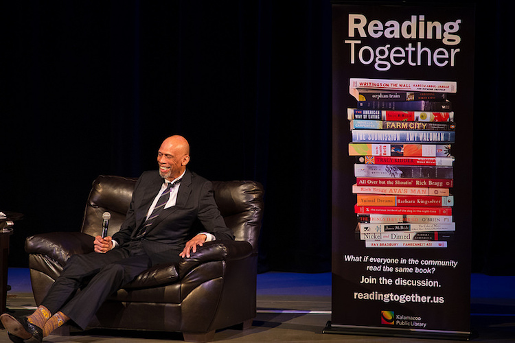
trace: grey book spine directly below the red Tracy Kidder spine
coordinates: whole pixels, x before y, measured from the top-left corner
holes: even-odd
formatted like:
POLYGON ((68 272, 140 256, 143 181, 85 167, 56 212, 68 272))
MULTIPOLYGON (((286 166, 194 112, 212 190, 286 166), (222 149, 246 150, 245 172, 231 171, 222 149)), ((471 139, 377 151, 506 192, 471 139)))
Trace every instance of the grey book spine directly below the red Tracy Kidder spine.
POLYGON ((453 167, 357 163, 354 164, 354 176, 358 178, 454 178, 453 167))

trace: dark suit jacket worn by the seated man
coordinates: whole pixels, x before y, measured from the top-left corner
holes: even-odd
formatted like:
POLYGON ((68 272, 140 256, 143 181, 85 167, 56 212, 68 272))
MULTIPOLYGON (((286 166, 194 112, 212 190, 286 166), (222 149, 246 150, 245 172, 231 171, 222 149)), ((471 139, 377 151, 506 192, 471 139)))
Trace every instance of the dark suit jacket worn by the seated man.
MULTIPOLYGON (((134 236, 144 222, 161 185, 163 178, 159 176, 159 171, 145 171, 141 174, 135 185, 126 220, 113 235, 118 244, 124 246, 131 241, 131 235, 134 236)), ((211 182, 187 169, 179 185, 176 205, 161 212, 142 242, 153 264, 166 263, 175 261, 175 255, 183 250, 186 241, 201 231, 211 233, 217 240, 234 239, 218 211, 211 182), (202 224, 201 230, 198 230, 196 222, 202 224)))

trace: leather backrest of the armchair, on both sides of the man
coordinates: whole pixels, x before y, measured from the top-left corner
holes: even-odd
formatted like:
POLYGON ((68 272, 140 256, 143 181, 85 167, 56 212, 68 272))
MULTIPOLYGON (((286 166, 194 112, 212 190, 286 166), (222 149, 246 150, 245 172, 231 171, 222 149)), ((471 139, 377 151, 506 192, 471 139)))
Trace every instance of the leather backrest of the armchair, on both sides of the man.
MULTIPOLYGON (((93 181, 84 211, 81 232, 100 235, 102 214, 111 213, 108 235, 116 233, 125 220, 137 178, 100 175, 93 181)), ((264 190, 255 181, 213 181, 214 198, 225 224, 236 240, 249 241, 258 252, 258 237, 264 209, 264 190)))

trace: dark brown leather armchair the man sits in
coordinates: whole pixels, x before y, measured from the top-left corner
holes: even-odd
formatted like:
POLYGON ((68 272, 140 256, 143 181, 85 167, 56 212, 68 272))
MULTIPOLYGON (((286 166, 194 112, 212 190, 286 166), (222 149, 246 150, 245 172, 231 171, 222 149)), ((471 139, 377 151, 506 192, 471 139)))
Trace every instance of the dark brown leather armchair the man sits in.
MULTIPOLYGON (((93 182, 80 232, 28 237, 32 290, 39 305, 73 254, 93 251, 102 213, 109 235, 124 221, 135 178, 99 176, 93 182)), ((186 341, 206 342, 216 329, 255 318, 258 236, 263 187, 253 181, 214 181, 214 197, 235 241, 211 241, 179 265, 157 265, 110 296, 91 328, 180 331, 186 341)), ((80 291, 79 291, 80 292, 80 291)))

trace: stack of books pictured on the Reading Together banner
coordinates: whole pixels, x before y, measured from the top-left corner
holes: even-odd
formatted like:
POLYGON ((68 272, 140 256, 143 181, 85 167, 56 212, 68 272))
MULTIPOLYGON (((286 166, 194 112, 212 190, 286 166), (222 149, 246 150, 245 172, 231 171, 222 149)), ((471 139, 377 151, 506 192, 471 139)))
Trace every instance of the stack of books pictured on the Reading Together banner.
POLYGON ((452 81, 350 79, 356 237, 367 248, 446 248, 455 234, 452 81))

